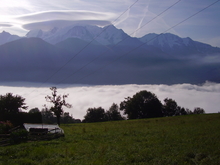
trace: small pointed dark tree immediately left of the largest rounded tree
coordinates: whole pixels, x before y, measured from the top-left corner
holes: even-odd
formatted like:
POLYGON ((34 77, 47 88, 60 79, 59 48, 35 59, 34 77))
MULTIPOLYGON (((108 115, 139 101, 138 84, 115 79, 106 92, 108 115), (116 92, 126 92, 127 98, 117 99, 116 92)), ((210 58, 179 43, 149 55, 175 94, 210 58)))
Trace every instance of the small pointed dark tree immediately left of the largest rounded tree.
POLYGON ((106 120, 108 121, 123 120, 123 117, 119 112, 119 107, 115 103, 113 103, 112 106, 109 108, 109 110, 106 111, 105 115, 106 115, 106 120))

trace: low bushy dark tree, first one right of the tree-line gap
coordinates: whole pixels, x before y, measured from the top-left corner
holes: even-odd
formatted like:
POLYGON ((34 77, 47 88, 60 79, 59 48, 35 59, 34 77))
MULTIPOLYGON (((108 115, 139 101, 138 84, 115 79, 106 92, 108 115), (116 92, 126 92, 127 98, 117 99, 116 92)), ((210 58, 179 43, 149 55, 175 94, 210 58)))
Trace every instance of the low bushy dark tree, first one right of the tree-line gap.
POLYGON ((105 110, 102 107, 89 108, 86 115, 84 116, 83 122, 102 122, 105 121, 105 110))

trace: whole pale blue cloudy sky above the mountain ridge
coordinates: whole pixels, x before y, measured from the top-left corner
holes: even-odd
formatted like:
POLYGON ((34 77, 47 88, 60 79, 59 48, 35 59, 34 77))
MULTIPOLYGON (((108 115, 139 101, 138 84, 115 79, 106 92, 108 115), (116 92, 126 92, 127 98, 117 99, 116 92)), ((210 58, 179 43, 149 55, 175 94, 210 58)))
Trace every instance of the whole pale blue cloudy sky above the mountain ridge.
POLYGON ((25 36, 34 29, 47 31, 53 27, 62 28, 79 23, 98 26, 113 24, 133 37, 169 32, 220 47, 219 0, 184 21, 216 1, 1 0, 0 32, 25 36))

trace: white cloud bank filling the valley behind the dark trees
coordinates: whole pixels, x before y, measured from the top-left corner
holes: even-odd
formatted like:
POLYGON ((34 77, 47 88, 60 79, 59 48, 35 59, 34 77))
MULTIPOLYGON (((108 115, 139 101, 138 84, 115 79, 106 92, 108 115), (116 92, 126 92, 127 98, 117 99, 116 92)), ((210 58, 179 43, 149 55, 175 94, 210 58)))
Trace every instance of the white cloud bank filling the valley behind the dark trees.
MULTIPOLYGON (((83 119, 88 108, 103 107, 108 109, 112 103, 120 104, 125 97, 132 97, 141 90, 148 90, 157 95, 163 103, 165 98, 174 99, 178 105, 193 110, 195 107, 204 108, 206 113, 220 111, 220 84, 206 82, 202 85, 116 85, 116 86, 74 86, 58 88, 58 94, 69 94, 67 102, 72 104, 70 112, 74 118, 83 119)), ((47 104, 45 96, 50 95, 48 87, 9 87, 0 86, 0 94, 8 92, 21 95, 26 99, 29 109, 47 104)))

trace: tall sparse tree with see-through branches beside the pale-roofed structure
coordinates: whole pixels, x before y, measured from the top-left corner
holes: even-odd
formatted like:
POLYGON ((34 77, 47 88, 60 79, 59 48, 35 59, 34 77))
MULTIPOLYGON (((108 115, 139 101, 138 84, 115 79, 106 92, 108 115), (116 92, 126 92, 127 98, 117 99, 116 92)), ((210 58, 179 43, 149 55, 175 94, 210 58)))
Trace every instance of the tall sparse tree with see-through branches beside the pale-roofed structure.
POLYGON ((50 90, 52 91, 52 96, 46 96, 46 101, 53 103, 53 106, 50 110, 56 115, 57 117, 57 124, 60 125, 60 117, 63 114, 63 106, 67 108, 71 108, 72 105, 66 103, 66 98, 68 95, 57 95, 57 88, 51 87, 50 90))

